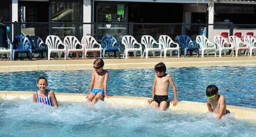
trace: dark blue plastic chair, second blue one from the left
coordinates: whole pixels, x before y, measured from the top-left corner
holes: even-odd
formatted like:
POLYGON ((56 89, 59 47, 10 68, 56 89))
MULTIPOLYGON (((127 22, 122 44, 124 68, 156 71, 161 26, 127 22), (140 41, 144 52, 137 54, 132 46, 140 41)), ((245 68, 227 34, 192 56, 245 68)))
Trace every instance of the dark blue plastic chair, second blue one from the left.
POLYGON ((41 58, 44 58, 44 52, 46 52, 46 58, 48 53, 48 46, 44 44, 44 41, 40 36, 30 36, 28 38, 32 44, 32 53, 40 53, 41 58))

